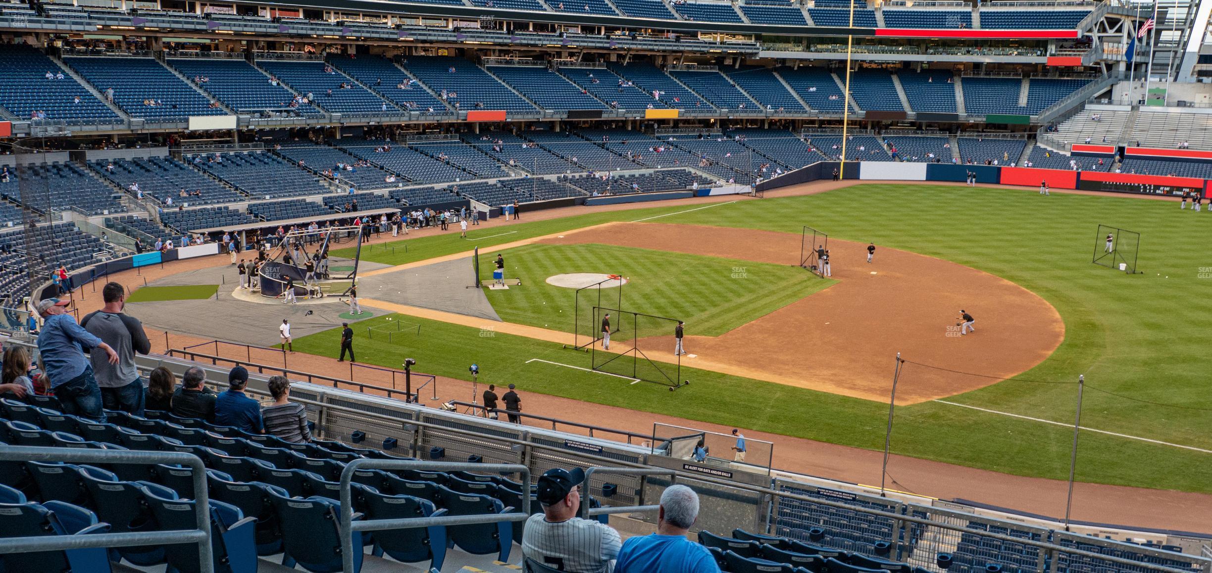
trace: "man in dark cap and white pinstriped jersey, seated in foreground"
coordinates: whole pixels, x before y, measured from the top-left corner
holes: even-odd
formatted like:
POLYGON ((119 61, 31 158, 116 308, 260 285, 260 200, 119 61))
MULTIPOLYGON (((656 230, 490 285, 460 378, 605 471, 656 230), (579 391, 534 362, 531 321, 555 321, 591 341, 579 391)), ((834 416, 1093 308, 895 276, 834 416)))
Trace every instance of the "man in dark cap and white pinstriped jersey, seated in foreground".
POLYGON ((548 567, 581 573, 608 573, 622 546, 618 532, 595 520, 577 517, 585 472, 560 468, 538 479, 534 497, 543 514, 526 520, 522 555, 548 567))

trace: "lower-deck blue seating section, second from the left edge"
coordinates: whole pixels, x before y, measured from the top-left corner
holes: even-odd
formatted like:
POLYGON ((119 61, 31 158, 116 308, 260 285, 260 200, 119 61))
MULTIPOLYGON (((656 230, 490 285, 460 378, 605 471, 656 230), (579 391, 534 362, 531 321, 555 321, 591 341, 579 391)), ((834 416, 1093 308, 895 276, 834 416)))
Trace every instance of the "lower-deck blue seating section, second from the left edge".
MULTIPOLYGON (((131 184, 137 183, 144 195, 155 197, 162 205, 171 197, 173 207, 225 204, 244 199, 218 181, 172 157, 97 160, 92 166, 102 177, 124 189, 131 189, 131 184), (114 165, 113 172, 105 170, 108 164, 114 165), (181 196, 181 191, 185 191, 188 196, 181 196), (189 195, 194 191, 201 191, 201 196, 189 195)), ((128 193, 135 194, 133 190, 128 193)))

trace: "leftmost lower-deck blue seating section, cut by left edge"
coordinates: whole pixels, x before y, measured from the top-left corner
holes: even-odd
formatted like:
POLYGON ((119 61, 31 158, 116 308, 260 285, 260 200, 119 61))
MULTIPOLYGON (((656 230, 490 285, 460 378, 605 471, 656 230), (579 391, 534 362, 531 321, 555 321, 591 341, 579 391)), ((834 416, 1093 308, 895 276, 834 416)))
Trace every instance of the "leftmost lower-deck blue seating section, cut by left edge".
MULTIPOLYGON (((126 212, 120 191, 76 164, 32 165, 21 170, 10 168, 8 172, 11 176, 7 182, 0 179, 0 194, 40 213, 72 207, 86 214, 126 212), (22 194, 22 178, 25 179, 28 196, 22 194)), ((21 220, 19 216, 17 220, 21 220)))

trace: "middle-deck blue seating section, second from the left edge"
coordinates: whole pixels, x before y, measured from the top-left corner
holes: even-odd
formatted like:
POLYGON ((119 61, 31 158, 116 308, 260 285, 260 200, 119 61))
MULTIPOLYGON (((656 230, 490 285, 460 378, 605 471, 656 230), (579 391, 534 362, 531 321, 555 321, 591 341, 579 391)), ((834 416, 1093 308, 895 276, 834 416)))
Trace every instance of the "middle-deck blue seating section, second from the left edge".
POLYGON ((114 103, 132 118, 184 121, 190 115, 224 115, 221 108, 152 58, 63 58, 97 91, 114 90, 114 103))

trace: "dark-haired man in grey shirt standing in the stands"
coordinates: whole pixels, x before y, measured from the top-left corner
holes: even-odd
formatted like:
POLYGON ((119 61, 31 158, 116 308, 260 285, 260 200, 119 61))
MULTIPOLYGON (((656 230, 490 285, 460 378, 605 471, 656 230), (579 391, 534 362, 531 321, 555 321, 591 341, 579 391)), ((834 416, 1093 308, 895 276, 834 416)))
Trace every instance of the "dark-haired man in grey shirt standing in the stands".
POLYGON ((86 315, 80 326, 118 353, 118 363, 109 363, 104 353, 92 353, 90 356, 97 385, 101 386, 102 407, 143 416, 143 378, 135 367, 135 353, 148 354, 152 351, 152 343, 143 332, 143 323, 122 314, 126 288, 110 282, 101 292, 105 306, 86 315))

